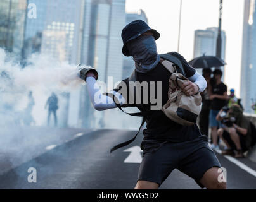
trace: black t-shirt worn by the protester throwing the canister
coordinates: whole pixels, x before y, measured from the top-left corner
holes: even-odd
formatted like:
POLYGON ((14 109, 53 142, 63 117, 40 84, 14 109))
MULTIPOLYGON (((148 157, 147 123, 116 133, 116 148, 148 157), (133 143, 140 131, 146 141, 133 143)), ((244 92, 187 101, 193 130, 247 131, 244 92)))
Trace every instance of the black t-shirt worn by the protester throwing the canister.
MULTIPOLYGON (((184 69, 186 76, 189 78, 195 74, 195 69, 192 67, 186 67, 184 69)), ((171 73, 159 62, 157 67, 148 71, 147 73, 137 73, 137 81, 143 82, 146 81, 149 83, 150 81, 155 81, 155 98, 157 98, 157 81, 162 81, 162 105, 164 105, 168 100, 168 90, 169 90, 169 78, 171 73)), ((122 105, 122 107, 136 106, 137 104, 129 104, 129 78, 126 78, 124 83, 127 85, 127 97, 125 100, 127 104, 122 105)), ((148 85, 149 86, 149 85, 148 85)), ((118 85, 115 88, 115 91, 119 91, 121 88, 118 85)), ((143 92, 143 91, 141 91, 143 92)), ((130 95, 131 96, 131 95, 130 95)), ((149 96, 150 97, 150 96, 149 96)), ((141 93, 141 100, 143 100, 143 93, 141 93)), ((144 103, 144 100, 143 100, 144 103)), ((150 106, 154 105, 150 103, 150 98, 148 99, 148 104, 143 104, 143 108, 146 110, 150 110, 150 106)), ((166 141, 172 142, 183 142, 188 140, 193 140, 200 136, 200 131, 196 124, 193 126, 182 126, 181 124, 177 124, 176 122, 170 120, 162 110, 156 110, 153 112, 152 116, 146 117, 146 129, 143 130, 144 139, 141 143, 141 149, 144 149, 144 145, 148 143, 152 145, 153 148, 159 143, 163 143, 166 141)), ((148 148, 148 147, 147 147, 148 148)))

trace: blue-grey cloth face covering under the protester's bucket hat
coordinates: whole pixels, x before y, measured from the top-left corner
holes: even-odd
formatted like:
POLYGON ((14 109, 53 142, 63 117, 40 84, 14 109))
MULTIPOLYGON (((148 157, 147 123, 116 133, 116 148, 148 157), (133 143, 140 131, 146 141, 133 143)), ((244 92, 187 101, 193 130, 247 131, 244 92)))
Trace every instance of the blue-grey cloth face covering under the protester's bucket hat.
POLYGON ((135 61, 138 72, 146 73, 155 68, 160 61, 157 53, 155 38, 150 35, 143 35, 127 44, 127 48, 135 61))

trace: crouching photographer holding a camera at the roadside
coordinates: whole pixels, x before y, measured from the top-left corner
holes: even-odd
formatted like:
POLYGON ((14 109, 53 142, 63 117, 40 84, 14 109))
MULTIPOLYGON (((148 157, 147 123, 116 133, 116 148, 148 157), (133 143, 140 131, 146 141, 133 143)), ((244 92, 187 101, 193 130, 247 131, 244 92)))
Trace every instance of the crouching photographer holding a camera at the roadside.
POLYGON ((216 117, 222 122, 217 134, 227 146, 222 151, 223 155, 234 155, 235 158, 243 158, 243 152, 250 148, 250 121, 243 116, 243 110, 239 105, 231 105, 230 108, 223 107, 216 117), (236 150, 236 154, 234 154, 236 150))

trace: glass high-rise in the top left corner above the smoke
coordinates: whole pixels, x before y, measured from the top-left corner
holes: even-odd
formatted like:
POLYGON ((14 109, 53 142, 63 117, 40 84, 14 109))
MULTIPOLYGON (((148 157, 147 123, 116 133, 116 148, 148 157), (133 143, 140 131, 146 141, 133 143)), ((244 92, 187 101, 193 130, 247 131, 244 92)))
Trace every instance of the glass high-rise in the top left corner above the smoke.
POLYGON ((19 56, 24 43, 26 8, 27 0, 0 1, 0 47, 19 56))

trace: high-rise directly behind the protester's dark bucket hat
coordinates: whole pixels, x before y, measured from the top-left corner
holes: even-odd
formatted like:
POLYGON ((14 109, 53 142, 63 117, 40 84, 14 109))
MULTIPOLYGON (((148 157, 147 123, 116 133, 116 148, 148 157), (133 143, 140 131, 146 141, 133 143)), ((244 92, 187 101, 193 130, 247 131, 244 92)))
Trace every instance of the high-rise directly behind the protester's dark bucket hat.
MULTIPOLYGON (((126 14, 126 25, 131 23, 134 20, 143 20, 148 23, 148 18, 146 17, 146 13, 143 10, 140 10, 140 13, 127 13, 126 14)), ((131 57, 123 56, 124 65, 122 71, 122 78, 127 78, 131 75, 134 69, 134 61, 131 57)))

